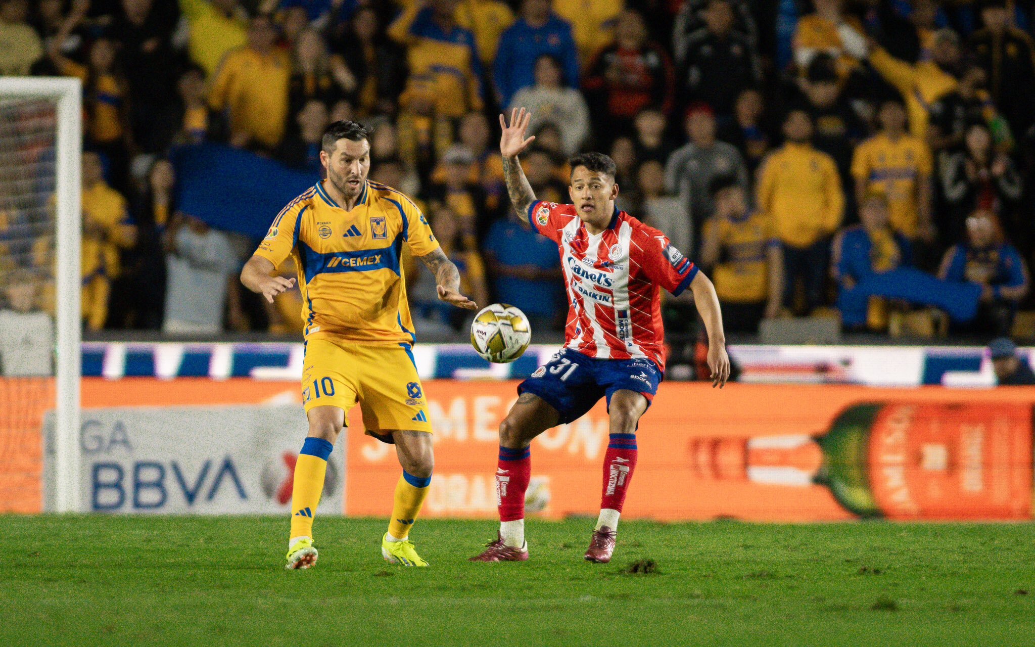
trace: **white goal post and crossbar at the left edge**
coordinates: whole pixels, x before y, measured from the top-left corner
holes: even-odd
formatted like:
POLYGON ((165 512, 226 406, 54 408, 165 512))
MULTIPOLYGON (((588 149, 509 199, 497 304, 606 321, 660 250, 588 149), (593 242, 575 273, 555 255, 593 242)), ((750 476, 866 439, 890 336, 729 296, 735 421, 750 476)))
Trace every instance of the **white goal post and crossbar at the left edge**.
POLYGON ((83 90, 79 79, 0 78, 0 100, 46 99, 57 114, 55 159, 54 509, 80 507, 80 292, 83 90))

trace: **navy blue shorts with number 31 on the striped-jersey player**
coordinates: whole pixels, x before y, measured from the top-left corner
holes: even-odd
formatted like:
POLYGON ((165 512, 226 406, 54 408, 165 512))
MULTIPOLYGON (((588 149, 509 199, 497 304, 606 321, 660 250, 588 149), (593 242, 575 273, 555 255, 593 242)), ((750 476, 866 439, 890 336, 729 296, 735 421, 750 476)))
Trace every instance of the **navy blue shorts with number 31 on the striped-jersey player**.
POLYGON ((518 392, 541 398, 560 412, 563 424, 582 417, 601 398, 610 407, 611 395, 622 389, 643 393, 649 407, 662 377, 649 359, 596 359, 565 348, 519 384, 518 392))

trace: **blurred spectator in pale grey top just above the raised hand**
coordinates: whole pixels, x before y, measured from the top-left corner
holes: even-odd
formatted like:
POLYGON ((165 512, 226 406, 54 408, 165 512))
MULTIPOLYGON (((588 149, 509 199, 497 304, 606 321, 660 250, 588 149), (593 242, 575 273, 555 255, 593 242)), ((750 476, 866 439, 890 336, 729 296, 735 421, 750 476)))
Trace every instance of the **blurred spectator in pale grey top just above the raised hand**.
POLYGON ((526 108, 531 113, 533 131, 543 123, 556 125, 562 152, 571 156, 589 136, 589 108, 579 90, 561 84, 562 75, 560 61, 543 54, 535 62, 535 85, 519 90, 510 108, 526 108))

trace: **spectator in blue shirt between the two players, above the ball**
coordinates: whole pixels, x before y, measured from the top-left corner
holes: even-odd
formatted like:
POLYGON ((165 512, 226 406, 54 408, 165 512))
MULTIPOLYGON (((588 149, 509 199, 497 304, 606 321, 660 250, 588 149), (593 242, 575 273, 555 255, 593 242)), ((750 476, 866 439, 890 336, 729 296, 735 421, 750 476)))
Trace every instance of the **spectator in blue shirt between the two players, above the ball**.
POLYGON ((489 230, 483 252, 493 277, 493 298, 520 307, 532 330, 556 329, 558 314, 564 310, 557 245, 513 218, 500 218, 489 230))

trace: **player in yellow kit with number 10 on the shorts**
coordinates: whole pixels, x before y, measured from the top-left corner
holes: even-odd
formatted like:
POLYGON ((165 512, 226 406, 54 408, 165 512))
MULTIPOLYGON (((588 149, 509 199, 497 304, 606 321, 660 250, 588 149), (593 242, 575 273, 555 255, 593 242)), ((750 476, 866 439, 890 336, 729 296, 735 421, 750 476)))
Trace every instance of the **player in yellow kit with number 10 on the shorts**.
POLYGON ((427 565, 409 540, 434 458, 426 401, 410 350, 414 334, 400 265, 403 245, 435 275, 440 299, 477 307, 460 293, 456 266, 420 209, 397 190, 366 179, 368 135, 353 121, 327 126, 320 152, 327 179, 280 211, 241 272, 241 283, 272 302, 294 285, 294 278, 274 273, 291 256, 302 293, 302 403, 309 432, 295 464, 288 568, 316 563, 313 513, 327 458, 347 425, 346 411, 357 402, 366 433, 393 443, 403 467, 381 554, 391 563, 427 565))

